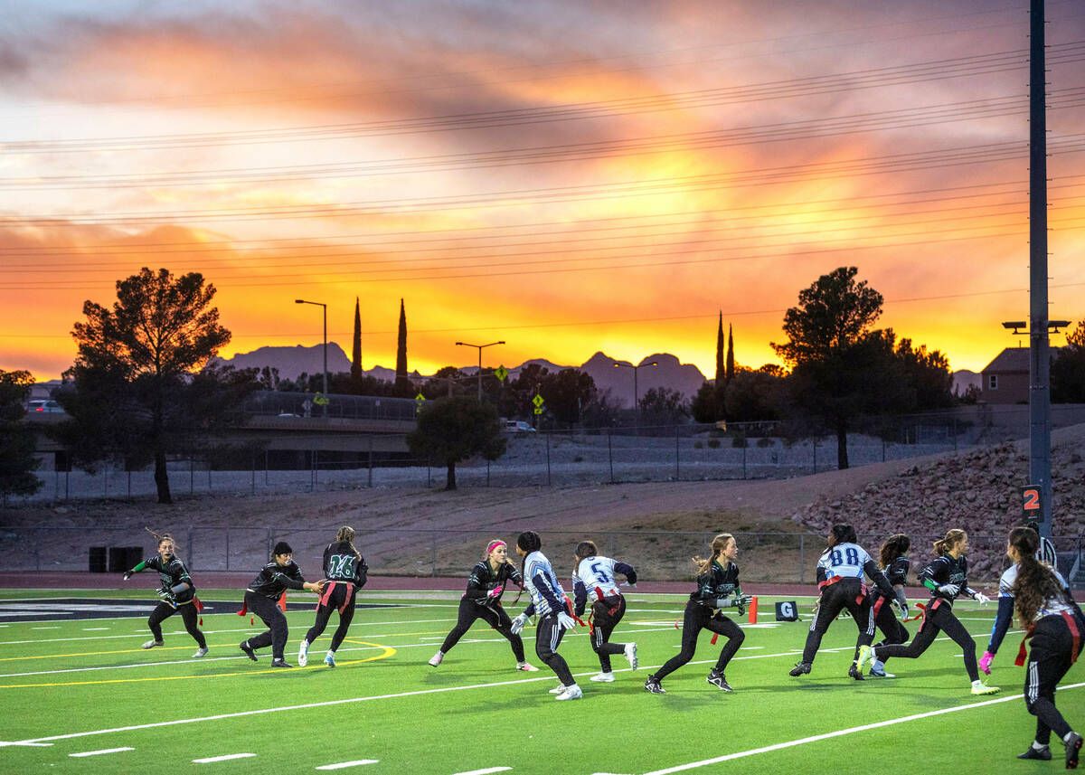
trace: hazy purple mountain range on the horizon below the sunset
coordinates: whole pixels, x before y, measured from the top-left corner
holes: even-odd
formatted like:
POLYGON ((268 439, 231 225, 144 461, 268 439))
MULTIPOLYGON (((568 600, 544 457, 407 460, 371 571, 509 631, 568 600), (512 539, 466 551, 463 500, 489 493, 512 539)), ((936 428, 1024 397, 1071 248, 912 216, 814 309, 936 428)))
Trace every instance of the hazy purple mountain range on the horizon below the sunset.
MULTIPOLYGON (((669 353, 655 353, 641 360, 641 364, 659 364, 658 366, 644 366, 637 373, 637 389, 639 395, 651 387, 667 387, 677 390, 687 398, 692 398, 704 382, 704 374, 692 364, 682 364, 669 353)), ((302 345, 275 347, 266 346, 254 350, 251 353, 238 353, 232 358, 219 358, 218 363, 233 366, 239 369, 258 368, 265 366, 279 370, 279 376, 283 379, 295 380, 303 371, 309 374, 319 374, 323 369, 323 347, 316 344, 311 347, 302 345)), ((525 360, 520 366, 508 367, 510 379, 515 379, 521 369, 532 364, 537 364, 551 373, 557 373, 562 369, 576 368, 586 371, 595 380, 596 386, 600 391, 610 391, 615 403, 624 406, 633 406, 633 370, 627 368, 615 368, 615 359, 604 353, 596 353, 580 366, 560 366, 546 360, 545 358, 532 358, 525 360)), ((620 361, 631 366, 628 360, 620 361)), ((459 367, 465 374, 473 374, 478 370, 477 366, 459 367)), ((328 343, 328 371, 337 373, 350 370, 350 359, 343 352, 343 348, 335 342, 328 343)), ((383 366, 374 366, 366 369, 365 374, 376 379, 392 381, 396 377, 395 369, 383 366)), ((418 372, 411 374, 412 378, 420 377, 418 372)), ((422 379, 425 376, 421 376, 422 379)))

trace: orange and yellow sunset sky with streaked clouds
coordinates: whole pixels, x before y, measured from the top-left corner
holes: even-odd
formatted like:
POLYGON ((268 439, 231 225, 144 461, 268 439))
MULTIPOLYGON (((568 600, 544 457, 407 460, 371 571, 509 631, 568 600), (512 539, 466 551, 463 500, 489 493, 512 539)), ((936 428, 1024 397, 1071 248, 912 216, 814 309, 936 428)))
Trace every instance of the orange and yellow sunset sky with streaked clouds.
MULTIPOLYGON (((859 267, 979 370, 1029 314, 1027 0, 9 1, 0 368, 200 271, 233 340, 409 367, 776 357, 859 267), (490 357, 493 354, 493 357, 490 357)), ((1085 318, 1085 4, 1047 2, 1052 318, 1085 318)), ((1052 344, 1062 344, 1061 335, 1052 344)), ((1026 342, 1025 342, 1026 343, 1026 342)))

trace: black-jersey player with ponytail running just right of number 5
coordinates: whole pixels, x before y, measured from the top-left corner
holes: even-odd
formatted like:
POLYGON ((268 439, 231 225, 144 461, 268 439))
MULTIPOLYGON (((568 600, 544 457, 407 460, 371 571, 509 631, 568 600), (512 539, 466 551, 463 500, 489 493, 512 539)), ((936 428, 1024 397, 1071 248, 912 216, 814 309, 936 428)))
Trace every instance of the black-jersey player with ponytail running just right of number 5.
POLYGON ((727 645, 719 652, 716 666, 709 671, 707 682, 724 691, 732 691, 724 671, 735 652, 739 650, 745 633, 720 609, 737 608, 739 615, 753 599, 743 595, 739 587, 739 567, 735 558, 739 555, 738 544, 730 533, 720 533, 712 539, 712 556, 704 560, 693 558, 697 566, 697 589, 690 593, 686 612, 682 615, 681 651, 667 660, 666 664, 648 676, 644 688, 653 695, 665 695, 661 682, 691 659, 697 650, 697 637, 702 630, 709 630, 727 638, 727 645))

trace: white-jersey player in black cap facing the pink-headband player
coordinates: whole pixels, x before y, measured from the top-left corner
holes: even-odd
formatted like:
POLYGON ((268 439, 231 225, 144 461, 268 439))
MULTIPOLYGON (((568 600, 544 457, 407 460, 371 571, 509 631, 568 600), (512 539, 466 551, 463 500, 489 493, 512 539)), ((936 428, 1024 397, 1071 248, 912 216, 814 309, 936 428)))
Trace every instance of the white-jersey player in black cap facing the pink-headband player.
POLYGON ((553 567, 540 549, 542 541, 538 533, 526 531, 516 538, 516 554, 523 558, 521 575, 524 588, 532 596, 526 610, 512 620, 512 632, 519 635, 527 623, 527 618, 537 613, 535 630, 535 653, 558 675, 561 687, 554 691, 559 700, 578 700, 584 695, 576 685, 576 678, 569 670, 565 659, 558 653, 558 645, 566 630, 576 626, 576 620, 569 615, 569 598, 553 574, 553 567))

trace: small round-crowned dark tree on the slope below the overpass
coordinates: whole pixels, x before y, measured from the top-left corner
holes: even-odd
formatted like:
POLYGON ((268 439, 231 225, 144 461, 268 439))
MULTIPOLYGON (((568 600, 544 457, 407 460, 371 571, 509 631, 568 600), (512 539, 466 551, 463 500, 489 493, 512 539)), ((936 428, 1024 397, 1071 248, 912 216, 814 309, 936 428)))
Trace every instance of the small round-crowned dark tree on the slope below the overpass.
POLYGON ((476 396, 437 398, 419 412, 407 446, 411 455, 446 466, 445 490, 456 490, 457 462, 475 455, 496 460, 505 454, 508 440, 502 430, 497 409, 476 396))

